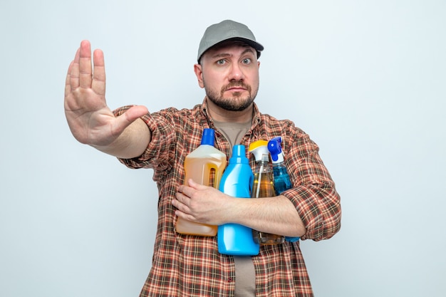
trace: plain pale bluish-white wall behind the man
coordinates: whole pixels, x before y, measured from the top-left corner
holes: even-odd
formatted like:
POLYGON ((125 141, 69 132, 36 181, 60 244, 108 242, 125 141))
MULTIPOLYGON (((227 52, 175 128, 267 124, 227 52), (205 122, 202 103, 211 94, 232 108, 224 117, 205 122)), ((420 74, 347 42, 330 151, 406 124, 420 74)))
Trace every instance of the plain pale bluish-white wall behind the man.
POLYGON ((192 108, 209 24, 265 46, 256 103, 321 147, 339 234, 301 243, 316 296, 445 296, 446 2, 0 2, 0 296, 138 296, 157 188, 76 142, 63 114, 81 40, 105 53, 108 105, 192 108))

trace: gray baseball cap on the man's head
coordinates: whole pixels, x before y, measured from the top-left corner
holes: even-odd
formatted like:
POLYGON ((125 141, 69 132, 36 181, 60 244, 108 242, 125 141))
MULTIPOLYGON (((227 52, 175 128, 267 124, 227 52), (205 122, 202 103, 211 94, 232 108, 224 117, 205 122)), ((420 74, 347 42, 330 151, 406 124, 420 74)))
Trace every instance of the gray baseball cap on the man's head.
POLYGON ((259 58, 260 52, 264 50, 264 47, 256 41, 254 34, 246 25, 237 23, 237 21, 225 20, 207 27, 206 31, 204 31, 202 41, 199 42, 198 63, 205 51, 218 43, 228 40, 243 41, 252 46, 257 51, 257 58, 259 58))

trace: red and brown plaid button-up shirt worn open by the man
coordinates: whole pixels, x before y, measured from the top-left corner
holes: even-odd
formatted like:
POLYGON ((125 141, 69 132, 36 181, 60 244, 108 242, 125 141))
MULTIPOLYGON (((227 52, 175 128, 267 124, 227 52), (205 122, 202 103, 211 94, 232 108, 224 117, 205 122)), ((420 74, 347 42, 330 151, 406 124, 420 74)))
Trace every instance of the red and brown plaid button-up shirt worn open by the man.
MULTIPOLYGON (((128 107, 115 110, 120 115, 128 107)), ((170 204, 185 172, 185 156, 199 145, 202 130, 214 128, 207 115, 206 100, 192 110, 167 108, 142 118, 152 131, 152 140, 142 156, 120 160, 132 168, 152 168, 159 190, 158 222, 152 269, 140 297, 234 296, 232 256, 219 254, 217 237, 177 234, 170 204)), ((252 126, 243 145, 255 140, 283 137, 285 162, 294 188, 283 192, 296 206, 307 233, 301 239, 328 239, 341 226, 340 197, 318 155, 318 146, 289 120, 276 120, 259 113, 254 105, 252 126)), ((215 146, 229 156, 230 147, 215 131, 215 146)), ((250 157, 254 169, 254 157, 250 157)), ((313 296, 299 241, 261 246, 252 257, 256 270, 256 296, 313 296)))

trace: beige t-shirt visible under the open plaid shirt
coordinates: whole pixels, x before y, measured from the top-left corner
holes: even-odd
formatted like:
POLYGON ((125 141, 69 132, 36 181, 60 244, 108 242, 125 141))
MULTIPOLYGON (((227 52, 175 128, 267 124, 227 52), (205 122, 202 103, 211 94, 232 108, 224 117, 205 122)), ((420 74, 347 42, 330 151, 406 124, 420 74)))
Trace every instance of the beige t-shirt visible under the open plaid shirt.
MULTIPOLYGON (((231 144, 239 144, 242 137, 251 127, 251 120, 247 123, 222 123, 215 122, 217 127, 231 144)), ((256 273, 251 256, 234 256, 235 264, 235 297, 256 296, 256 273)))

